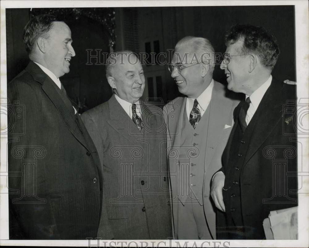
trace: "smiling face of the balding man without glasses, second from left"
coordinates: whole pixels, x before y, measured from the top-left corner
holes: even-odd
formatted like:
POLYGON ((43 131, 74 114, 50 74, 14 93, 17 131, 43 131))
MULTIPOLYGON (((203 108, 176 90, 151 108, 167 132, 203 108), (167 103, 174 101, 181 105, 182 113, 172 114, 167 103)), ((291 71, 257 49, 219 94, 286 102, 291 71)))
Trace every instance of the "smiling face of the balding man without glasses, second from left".
POLYGON ((138 101, 143 95, 144 71, 141 62, 133 53, 118 56, 117 65, 112 68, 112 76, 107 79, 109 85, 116 90, 117 95, 129 103, 138 101))

